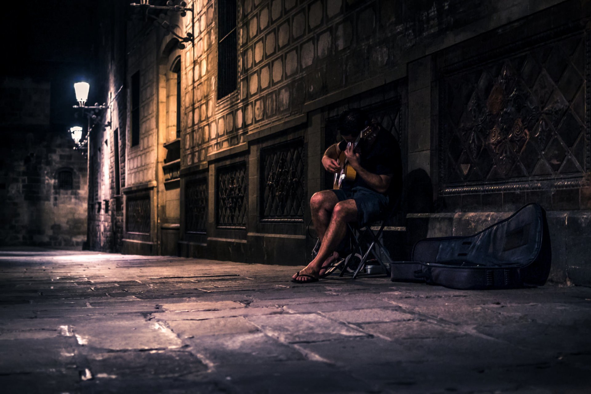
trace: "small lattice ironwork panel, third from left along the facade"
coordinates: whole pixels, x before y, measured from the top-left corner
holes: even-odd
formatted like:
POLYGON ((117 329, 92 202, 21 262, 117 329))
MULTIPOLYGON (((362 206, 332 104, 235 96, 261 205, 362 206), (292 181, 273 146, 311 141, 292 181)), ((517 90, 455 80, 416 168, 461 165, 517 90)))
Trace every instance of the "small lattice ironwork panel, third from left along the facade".
POLYGON ((246 162, 217 171, 217 226, 246 226, 246 162))

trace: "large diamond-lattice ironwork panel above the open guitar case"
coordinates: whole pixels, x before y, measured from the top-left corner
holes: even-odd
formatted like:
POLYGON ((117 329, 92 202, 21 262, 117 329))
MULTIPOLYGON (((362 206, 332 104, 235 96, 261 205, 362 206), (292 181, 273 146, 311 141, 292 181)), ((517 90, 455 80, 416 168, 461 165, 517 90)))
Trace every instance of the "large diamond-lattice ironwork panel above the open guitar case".
POLYGON ((575 35, 443 77, 443 193, 582 176, 589 146, 586 41, 575 35))

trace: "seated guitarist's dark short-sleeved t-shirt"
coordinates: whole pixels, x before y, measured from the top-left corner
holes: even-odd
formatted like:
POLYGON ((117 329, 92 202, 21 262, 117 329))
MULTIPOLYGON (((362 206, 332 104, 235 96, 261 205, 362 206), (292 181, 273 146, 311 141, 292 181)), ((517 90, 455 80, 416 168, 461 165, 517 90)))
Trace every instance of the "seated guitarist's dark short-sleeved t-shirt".
MULTIPOLYGON (((390 197, 391 203, 394 199, 400 196, 402 191, 402 160, 400 154, 400 145, 394 136, 380 128, 374 143, 368 148, 365 140, 361 140, 361 167, 376 175, 392 174, 390 187, 385 193, 390 197)), ((339 149, 345 151, 347 142, 345 140, 339 142, 339 149)), ((356 177, 351 187, 362 186, 374 190, 361 178, 356 177)))

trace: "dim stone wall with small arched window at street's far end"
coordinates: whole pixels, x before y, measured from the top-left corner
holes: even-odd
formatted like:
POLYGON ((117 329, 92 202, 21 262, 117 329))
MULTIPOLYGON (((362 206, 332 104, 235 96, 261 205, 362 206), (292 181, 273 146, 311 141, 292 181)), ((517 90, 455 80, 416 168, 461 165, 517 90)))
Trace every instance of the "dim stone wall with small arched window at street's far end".
POLYGON ((50 90, 27 78, 7 77, 0 86, 2 246, 82 248, 86 241, 86 157, 51 123, 50 90))

